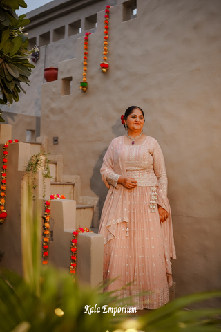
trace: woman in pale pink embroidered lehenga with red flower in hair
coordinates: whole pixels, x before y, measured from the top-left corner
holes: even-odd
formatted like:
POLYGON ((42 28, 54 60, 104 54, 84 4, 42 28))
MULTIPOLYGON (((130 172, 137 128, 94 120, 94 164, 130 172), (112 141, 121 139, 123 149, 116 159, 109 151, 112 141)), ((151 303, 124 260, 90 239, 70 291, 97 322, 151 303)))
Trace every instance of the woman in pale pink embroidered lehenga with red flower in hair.
POLYGON ((137 309, 156 309, 169 302, 175 259, 164 156, 157 140, 142 133, 140 107, 128 107, 122 118, 127 134, 111 142, 101 169, 109 189, 99 228, 104 279, 117 277, 108 291, 131 283, 117 294, 133 295, 137 309))

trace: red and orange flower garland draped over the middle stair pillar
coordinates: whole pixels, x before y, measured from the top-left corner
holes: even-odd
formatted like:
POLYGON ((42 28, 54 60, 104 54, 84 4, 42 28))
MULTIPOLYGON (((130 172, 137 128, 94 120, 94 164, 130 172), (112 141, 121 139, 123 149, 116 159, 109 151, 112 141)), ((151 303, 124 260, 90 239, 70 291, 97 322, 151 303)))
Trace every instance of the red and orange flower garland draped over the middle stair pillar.
POLYGON ((49 246, 49 234, 50 234, 50 201, 52 199, 65 199, 64 195, 50 195, 50 199, 44 203, 44 225, 43 225, 43 257, 44 261, 42 261, 43 265, 48 264, 48 246, 49 246))

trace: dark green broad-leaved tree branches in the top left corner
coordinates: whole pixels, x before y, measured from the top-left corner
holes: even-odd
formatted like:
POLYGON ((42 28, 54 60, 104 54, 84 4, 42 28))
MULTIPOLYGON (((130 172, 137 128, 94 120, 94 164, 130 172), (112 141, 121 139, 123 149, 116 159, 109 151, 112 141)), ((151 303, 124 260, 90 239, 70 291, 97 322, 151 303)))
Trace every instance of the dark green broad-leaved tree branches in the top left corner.
MULTIPOLYGON (((26 8, 25 1, 0 1, 0 104, 17 102, 19 93, 26 93, 21 82, 28 84, 28 77, 35 68, 29 61, 34 50, 28 51, 28 34, 23 28, 30 21, 26 15, 17 16, 15 10, 19 7, 26 8)), ((4 122, 1 114, 0 122, 4 122)))

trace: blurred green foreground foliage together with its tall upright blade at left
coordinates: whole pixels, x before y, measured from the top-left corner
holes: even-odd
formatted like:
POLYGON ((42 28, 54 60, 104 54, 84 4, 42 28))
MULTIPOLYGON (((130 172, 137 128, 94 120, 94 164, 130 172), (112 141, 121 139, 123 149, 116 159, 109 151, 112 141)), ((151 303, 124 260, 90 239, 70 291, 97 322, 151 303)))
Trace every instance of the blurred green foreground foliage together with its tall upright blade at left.
MULTIPOLYGON (((31 176, 27 174, 27 176, 31 176)), ((221 308, 186 311, 195 302, 221 297, 221 291, 180 297, 142 317, 102 313, 102 307, 121 306, 103 286, 89 288, 73 282, 68 270, 41 269, 41 215, 38 199, 32 201, 30 181, 23 179, 21 241, 24 278, 9 270, 0 272, 0 332, 217 332, 221 308), (85 313, 86 305, 99 313, 85 313), (59 317, 55 309, 64 315, 59 317), (131 329, 131 330, 130 330, 131 329)), ((15 239, 16 240, 16 239, 15 239)), ((132 298, 133 302, 133 298, 132 298)), ((127 301, 128 304, 128 301, 127 301)), ((124 306, 124 305, 123 305, 124 306)))

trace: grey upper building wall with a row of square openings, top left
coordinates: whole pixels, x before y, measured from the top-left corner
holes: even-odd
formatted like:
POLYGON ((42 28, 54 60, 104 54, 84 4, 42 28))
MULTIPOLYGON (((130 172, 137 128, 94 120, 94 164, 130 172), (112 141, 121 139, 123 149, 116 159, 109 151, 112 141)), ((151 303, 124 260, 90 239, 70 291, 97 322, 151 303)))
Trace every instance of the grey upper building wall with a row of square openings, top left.
MULTIPOLYGON (((35 63, 35 69, 32 70, 32 75, 29 77, 30 86, 23 84, 26 95, 21 92, 19 102, 14 102, 10 109, 7 106, 1 106, 3 112, 10 111, 11 113, 41 116, 41 84, 46 82, 44 68, 57 67, 59 62, 73 59, 76 56, 77 38, 83 36, 86 30, 85 19, 106 8, 107 4, 114 5, 115 3, 117 0, 55 0, 29 12, 27 18, 30 19, 30 24, 26 26, 28 39, 32 41, 36 38, 35 44, 40 46, 40 59, 35 63), (81 20, 81 33, 68 37, 69 24, 79 20, 81 20), (61 26, 65 26, 64 38, 53 42, 54 30, 61 26), (50 42, 42 44, 40 36, 48 32, 50 33, 50 42)), ((92 33, 95 31, 96 28, 90 29, 92 33)))

